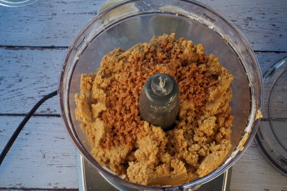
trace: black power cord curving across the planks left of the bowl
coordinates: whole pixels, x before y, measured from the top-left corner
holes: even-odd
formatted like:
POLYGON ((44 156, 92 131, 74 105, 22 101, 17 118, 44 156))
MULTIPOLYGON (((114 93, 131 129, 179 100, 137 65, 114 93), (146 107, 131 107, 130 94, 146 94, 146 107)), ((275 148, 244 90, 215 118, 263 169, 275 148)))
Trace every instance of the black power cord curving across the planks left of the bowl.
POLYGON ((42 103, 44 103, 47 99, 50 99, 51 97, 54 97, 55 95, 57 95, 57 90, 49 93, 48 95, 46 95, 45 97, 43 97, 40 101, 38 101, 38 103, 36 103, 36 105, 31 109, 31 111, 28 113, 28 115, 26 115, 26 117, 23 119, 23 121, 20 123, 20 125, 17 127, 17 129, 14 131, 13 135, 11 136, 11 138, 9 139, 7 145, 5 146, 5 148, 3 149, 1 155, 0 155, 0 165, 2 164, 6 154, 8 153, 9 149, 11 148, 11 146, 13 145, 14 141, 16 140, 16 138, 18 137, 19 133, 21 132, 21 130, 23 129, 23 127, 26 125, 26 123, 28 122, 28 120, 32 117, 32 115, 35 113, 35 111, 38 109, 38 107, 40 107, 40 105, 42 105, 42 103))

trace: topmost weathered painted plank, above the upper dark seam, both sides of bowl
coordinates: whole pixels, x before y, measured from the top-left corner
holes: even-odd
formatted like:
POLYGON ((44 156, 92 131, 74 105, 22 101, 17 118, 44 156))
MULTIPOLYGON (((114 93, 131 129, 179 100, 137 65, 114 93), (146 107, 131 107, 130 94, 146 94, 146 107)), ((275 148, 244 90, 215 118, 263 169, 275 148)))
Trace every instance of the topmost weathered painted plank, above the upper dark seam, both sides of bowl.
MULTIPOLYGON (((105 0, 37 1, 0 7, 0 45, 69 46, 105 0)), ((201 0, 230 19, 254 50, 287 51, 287 1, 201 0)))

